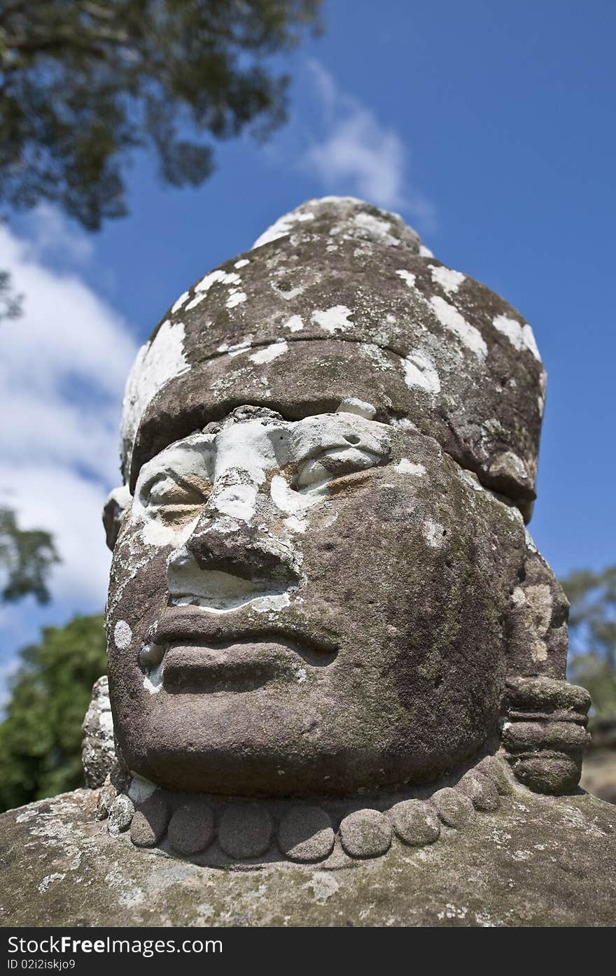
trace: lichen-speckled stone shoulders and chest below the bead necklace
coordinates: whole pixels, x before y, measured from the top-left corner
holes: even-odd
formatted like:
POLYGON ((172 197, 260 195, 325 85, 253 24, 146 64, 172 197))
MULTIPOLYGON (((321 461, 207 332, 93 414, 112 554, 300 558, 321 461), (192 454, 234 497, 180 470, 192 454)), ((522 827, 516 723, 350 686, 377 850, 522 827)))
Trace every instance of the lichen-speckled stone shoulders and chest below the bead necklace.
POLYGON ((108 836, 95 805, 96 794, 84 790, 0 817, 3 924, 616 923, 616 811, 588 794, 517 787, 497 814, 477 814, 421 851, 399 844, 333 872, 288 863, 250 872, 199 867, 136 848, 126 834, 108 836))

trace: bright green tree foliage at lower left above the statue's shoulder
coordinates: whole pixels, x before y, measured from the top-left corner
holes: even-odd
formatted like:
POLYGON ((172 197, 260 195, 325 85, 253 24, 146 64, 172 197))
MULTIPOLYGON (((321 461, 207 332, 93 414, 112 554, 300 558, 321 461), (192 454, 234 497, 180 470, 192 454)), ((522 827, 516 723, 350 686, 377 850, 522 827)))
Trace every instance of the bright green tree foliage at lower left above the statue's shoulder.
POLYGON ((0 724, 0 809, 83 786, 81 723, 106 671, 103 617, 43 630, 21 651, 0 724))

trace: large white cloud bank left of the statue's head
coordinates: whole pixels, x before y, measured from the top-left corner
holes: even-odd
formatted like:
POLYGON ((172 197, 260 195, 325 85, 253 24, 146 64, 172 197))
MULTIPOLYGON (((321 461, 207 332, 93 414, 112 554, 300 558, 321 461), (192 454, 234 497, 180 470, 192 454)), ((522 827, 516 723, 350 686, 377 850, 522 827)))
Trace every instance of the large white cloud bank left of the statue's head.
MULTIPOLYGON (((36 217, 33 241, 0 227, 0 268, 23 295, 20 318, 0 323, 0 503, 22 528, 51 531, 62 557, 54 600, 103 607, 108 573, 101 508, 119 482, 118 426, 126 376, 137 346, 126 322, 73 271, 88 246, 50 209, 36 217)), ((6 608, 11 620, 19 605, 6 608)))

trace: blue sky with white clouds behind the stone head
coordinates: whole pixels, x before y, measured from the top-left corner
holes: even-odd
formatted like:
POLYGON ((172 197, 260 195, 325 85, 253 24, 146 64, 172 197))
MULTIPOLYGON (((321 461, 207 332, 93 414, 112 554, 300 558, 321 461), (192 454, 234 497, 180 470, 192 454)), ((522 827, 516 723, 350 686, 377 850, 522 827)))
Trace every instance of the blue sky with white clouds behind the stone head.
POLYGON ((0 499, 62 553, 48 606, 2 609, 0 675, 42 625, 103 606, 100 508, 137 346, 195 278, 324 193, 398 211, 531 322, 549 374, 531 532, 559 574, 616 560, 616 5, 330 0, 323 20, 281 61, 287 126, 219 146, 199 189, 140 157, 130 217, 101 233, 48 206, 0 228, 25 296, 2 327, 0 499))

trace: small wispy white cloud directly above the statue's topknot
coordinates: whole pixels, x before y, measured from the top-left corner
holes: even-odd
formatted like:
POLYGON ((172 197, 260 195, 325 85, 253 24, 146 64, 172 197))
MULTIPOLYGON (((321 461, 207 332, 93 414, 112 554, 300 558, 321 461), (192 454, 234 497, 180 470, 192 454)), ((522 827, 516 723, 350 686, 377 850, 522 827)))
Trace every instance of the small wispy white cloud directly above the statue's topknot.
POLYGON ((321 132, 312 138, 303 167, 327 192, 360 196, 431 220, 430 203, 409 186, 409 152, 399 134, 344 92, 318 61, 308 61, 308 71, 321 132))

